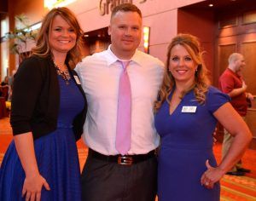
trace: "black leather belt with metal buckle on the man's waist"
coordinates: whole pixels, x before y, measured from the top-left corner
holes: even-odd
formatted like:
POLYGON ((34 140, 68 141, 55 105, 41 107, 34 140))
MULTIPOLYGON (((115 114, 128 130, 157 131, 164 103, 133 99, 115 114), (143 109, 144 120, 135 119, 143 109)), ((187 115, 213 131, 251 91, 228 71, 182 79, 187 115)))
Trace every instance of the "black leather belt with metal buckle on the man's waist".
POLYGON ((106 156, 102 153, 96 152, 92 149, 89 149, 89 156, 92 158, 96 158, 106 162, 112 162, 116 164, 123 164, 123 165, 131 165, 143 162, 149 158, 153 158, 155 156, 155 150, 148 152, 146 154, 137 154, 137 155, 110 155, 106 156))

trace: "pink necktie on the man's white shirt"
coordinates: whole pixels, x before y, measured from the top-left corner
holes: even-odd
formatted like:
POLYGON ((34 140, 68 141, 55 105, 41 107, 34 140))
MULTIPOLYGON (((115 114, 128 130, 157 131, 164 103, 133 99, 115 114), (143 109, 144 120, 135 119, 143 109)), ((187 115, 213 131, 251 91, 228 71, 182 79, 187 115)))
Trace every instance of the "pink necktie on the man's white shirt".
POLYGON ((131 84, 127 73, 129 61, 121 61, 123 72, 119 79, 119 102, 115 147, 125 155, 131 147, 131 84))

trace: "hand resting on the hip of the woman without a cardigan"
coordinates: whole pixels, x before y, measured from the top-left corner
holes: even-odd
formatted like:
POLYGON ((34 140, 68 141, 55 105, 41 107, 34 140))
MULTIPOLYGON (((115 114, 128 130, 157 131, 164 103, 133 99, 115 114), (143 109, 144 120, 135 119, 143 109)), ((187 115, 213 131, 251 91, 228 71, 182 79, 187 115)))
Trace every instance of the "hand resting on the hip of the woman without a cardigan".
POLYGON ((214 183, 219 181, 221 177, 225 174, 224 170, 220 168, 213 168, 209 164, 209 160, 206 162, 207 171, 201 176, 201 185, 204 185, 208 189, 212 189, 214 187, 214 183))

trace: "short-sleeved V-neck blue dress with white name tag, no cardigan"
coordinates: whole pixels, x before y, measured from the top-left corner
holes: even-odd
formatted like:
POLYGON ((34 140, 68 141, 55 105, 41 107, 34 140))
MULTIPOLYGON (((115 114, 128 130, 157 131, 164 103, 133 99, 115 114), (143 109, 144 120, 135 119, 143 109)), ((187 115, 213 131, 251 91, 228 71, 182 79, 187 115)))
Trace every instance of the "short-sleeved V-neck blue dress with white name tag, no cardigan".
POLYGON ((212 166, 217 166, 212 153, 212 134, 217 119, 212 113, 228 101, 228 95, 210 87, 204 105, 200 105, 194 92, 190 91, 172 115, 167 102, 160 107, 155 116, 155 127, 161 137, 158 168, 160 201, 219 200, 219 183, 209 190, 201 186, 201 175, 207 170, 207 159, 212 166), (196 111, 182 112, 184 106, 196 106, 196 111))

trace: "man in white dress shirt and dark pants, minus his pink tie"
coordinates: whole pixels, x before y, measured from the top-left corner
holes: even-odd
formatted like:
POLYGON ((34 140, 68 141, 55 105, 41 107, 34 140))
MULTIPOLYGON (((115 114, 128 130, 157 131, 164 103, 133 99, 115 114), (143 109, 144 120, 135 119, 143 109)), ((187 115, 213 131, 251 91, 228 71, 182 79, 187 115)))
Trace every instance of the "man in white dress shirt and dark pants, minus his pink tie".
POLYGON ((83 140, 89 155, 82 173, 84 201, 153 201, 156 194, 155 149, 160 136, 154 129, 154 101, 164 65, 137 47, 142 14, 133 4, 113 9, 107 50, 84 58, 76 67, 88 101, 83 140), (116 149, 120 61, 128 61, 131 83, 131 148, 125 156, 116 149))

